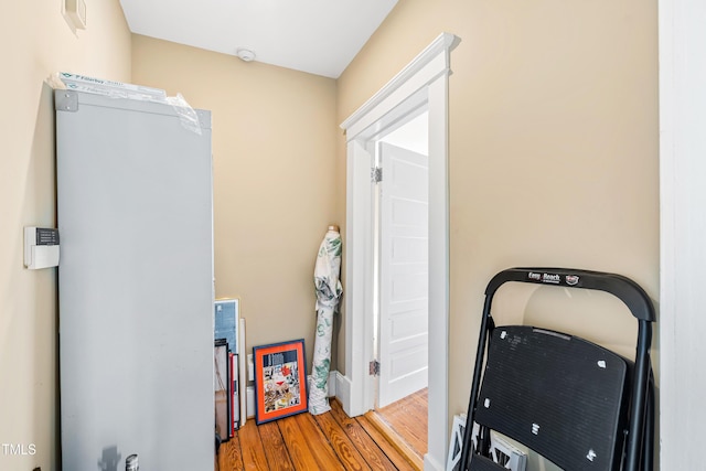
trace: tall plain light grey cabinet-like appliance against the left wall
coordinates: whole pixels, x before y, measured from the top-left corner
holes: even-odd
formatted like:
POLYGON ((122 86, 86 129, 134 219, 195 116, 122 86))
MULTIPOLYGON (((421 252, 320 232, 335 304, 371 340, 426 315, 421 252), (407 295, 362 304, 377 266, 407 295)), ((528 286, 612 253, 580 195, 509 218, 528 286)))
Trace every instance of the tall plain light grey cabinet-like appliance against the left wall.
POLYGON ((167 103, 55 109, 63 469, 213 469, 211 114, 197 133, 167 103))

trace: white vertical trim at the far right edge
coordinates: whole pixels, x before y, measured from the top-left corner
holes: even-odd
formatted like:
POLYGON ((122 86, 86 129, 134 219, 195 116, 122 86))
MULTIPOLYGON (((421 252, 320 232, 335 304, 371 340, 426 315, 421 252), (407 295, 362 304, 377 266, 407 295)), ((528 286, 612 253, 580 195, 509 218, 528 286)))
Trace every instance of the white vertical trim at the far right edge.
POLYGON ((706 6, 698 1, 659 1, 660 64, 660 464, 694 469, 703 446, 706 407, 697 374, 706 353, 703 307, 706 292, 704 239, 706 197, 703 175, 706 116, 706 6), (699 46, 698 44, 702 44, 699 46))

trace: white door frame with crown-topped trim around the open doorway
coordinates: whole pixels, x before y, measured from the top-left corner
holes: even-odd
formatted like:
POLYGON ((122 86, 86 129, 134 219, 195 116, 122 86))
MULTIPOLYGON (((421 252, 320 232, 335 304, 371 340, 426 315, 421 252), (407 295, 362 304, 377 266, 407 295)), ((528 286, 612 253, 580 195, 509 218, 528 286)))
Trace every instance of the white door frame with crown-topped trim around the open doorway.
POLYGON ((346 132, 345 376, 336 384, 344 410, 374 407, 373 360, 374 140, 419 106, 429 113, 429 407, 425 470, 442 471, 449 436, 449 118, 450 53, 460 39, 441 33, 402 72, 351 115, 346 132))

